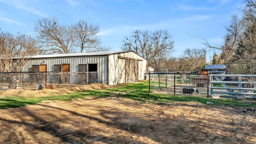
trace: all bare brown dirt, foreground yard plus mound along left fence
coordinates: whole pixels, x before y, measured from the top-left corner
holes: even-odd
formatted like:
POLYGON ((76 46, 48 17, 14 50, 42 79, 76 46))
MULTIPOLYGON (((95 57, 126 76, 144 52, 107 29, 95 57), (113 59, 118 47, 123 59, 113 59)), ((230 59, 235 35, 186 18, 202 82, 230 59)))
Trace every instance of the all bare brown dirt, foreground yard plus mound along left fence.
MULTIPOLYGON (((108 88, 6 90, 24 97, 108 88)), ((117 92, 118 93, 118 92, 117 92)), ((0 99, 1 100, 1 99, 0 99)), ((86 97, 0 109, 0 144, 256 144, 256 110, 86 97)))

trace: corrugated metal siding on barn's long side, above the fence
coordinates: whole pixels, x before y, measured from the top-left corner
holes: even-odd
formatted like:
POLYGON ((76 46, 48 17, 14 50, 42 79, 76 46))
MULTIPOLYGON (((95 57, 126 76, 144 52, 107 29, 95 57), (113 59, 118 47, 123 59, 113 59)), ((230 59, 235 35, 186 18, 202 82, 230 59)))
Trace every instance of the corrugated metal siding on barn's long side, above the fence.
POLYGON ((108 80, 108 56, 78 56, 78 57, 58 57, 58 58, 36 58, 31 59, 24 66, 24 72, 31 72, 32 65, 47 64, 47 71, 53 72, 54 64, 70 64, 70 72, 78 72, 78 64, 98 64, 98 72, 102 72, 102 82, 107 84, 108 80))

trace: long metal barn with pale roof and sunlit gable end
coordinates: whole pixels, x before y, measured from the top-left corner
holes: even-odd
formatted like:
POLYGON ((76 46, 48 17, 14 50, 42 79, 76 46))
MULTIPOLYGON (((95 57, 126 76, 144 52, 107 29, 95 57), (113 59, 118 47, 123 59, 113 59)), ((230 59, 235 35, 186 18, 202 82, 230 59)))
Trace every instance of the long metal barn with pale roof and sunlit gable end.
MULTIPOLYGON (((133 51, 50 54, 32 56, 23 71, 101 72, 102 83, 111 86, 144 79, 146 63, 144 58, 133 51)), ((79 84, 81 78, 84 78, 83 74, 70 75, 69 82, 79 84)))

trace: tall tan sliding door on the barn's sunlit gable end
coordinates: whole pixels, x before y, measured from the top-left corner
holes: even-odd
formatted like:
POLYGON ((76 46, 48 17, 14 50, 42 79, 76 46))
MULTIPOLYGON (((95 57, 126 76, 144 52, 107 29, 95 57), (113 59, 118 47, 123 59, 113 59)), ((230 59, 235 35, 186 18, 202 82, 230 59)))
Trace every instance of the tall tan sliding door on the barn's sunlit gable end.
POLYGON ((138 81, 138 69, 139 61, 125 59, 125 82, 137 82, 138 81))

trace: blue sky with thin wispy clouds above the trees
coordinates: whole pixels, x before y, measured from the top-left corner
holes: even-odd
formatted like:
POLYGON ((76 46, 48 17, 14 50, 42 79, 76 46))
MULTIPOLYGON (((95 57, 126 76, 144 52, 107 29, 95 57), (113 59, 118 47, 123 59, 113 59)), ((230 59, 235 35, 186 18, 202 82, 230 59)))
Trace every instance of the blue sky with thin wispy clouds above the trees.
MULTIPOLYGON (((99 25, 103 45, 121 50, 124 36, 134 30, 168 30, 179 57, 186 48, 205 48, 203 40, 222 44, 230 14, 244 0, 0 0, 0 27, 4 32, 34 34, 36 20, 55 16, 60 24, 83 19, 99 25)), ((213 52, 207 52, 210 62, 213 52)))

